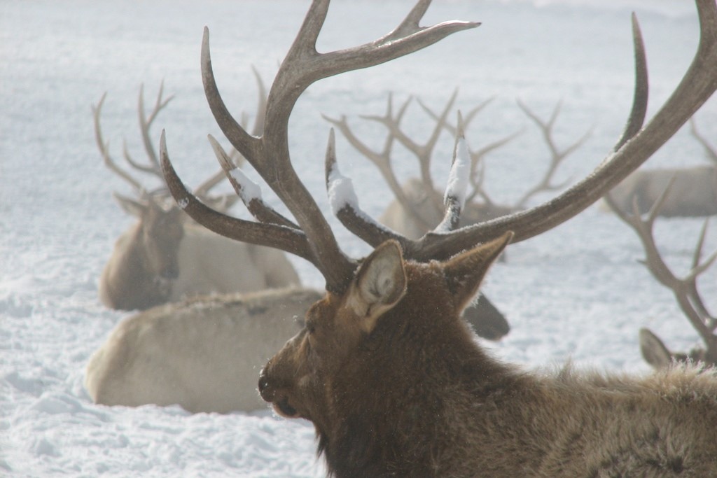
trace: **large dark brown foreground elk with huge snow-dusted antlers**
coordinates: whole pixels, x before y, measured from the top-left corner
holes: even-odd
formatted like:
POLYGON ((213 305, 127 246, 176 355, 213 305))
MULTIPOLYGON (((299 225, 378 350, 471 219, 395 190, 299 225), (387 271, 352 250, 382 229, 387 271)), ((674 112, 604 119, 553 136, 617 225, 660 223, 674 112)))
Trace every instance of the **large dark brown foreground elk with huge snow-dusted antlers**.
MULTIPOLYGON (((295 221, 250 194, 242 199, 257 221, 225 216, 202 204, 176 175, 164 134, 162 168, 172 195, 199 224, 303 257, 326 279, 325 297, 307 312, 304 328, 267 362, 258 386, 278 414, 313 422, 329 474, 717 475, 713 374, 689 367, 642 378, 582 373, 569 366, 559 373, 521 371, 486 353, 460 320, 490 264, 509 243, 552 229, 594 204, 717 90, 717 6, 713 0, 696 4, 700 46, 670 99, 643 125, 647 71, 635 20, 636 94, 624 135, 589 176, 525 211, 456 229, 469 167, 459 132, 444 219, 420 239, 409 239, 359 209, 351 182, 336 166, 330 133, 328 195, 342 224, 375 248, 361 260, 342 252, 291 165, 288 118, 295 102, 317 80, 387 62, 478 23, 419 27, 429 6, 419 0, 384 37, 319 53, 315 44, 329 2, 312 1, 271 87, 261 135, 247 133, 227 110, 204 30, 202 79, 214 118, 295 221)), ((226 158, 221 162, 235 187, 245 191, 240 171, 226 158)))

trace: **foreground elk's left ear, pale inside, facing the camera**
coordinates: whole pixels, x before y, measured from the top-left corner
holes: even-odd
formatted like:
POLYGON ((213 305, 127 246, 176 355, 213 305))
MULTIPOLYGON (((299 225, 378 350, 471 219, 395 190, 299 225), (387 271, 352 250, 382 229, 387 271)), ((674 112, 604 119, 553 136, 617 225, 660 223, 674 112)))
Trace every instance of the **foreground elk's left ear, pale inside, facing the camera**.
POLYGON ((370 333, 376 320, 406 293, 406 271, 401 247, 386 241, 364 259, 348 292, 348 305, 370 333))

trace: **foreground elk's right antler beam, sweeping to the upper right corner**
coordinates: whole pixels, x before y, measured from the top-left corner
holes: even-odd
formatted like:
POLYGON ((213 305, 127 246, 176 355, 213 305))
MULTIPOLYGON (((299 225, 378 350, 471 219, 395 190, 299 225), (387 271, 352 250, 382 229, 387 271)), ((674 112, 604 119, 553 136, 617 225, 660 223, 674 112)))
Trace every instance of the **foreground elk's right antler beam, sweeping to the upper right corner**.
MULTIPOLYGON (((624 135, 614 152, 589 176, 551 201, 509 216, 466 226, 451 234, 427 234, 419 250, 407 254, 407 257, 416 260, 450 257, 472 244, 497 237, 507 230, 516 232, 513 242, 536 236, 579 214, 647 161, 717 90, 717 5, 713 0, 695 0, 695 4, 701 28, 695 58, 676 90, 645 128, 635 128, 637 133, 627 140, 624 135)), ((639 40, 637 21, 633 27, 635 56, 640 57, 644 55, 644 48, 639 40)), ((645 65, 636 62, 636 68, 645 69, 645 65)), ((635 99, 644 102, 637 106, 638 109, 647 107, 646 95, 640 95, 640 91, 647 88, 642 82, 646 77, 646 70, 644 75, 635 75, 635 99)), ((632 123, 631 120, 628 127, 632 123)))

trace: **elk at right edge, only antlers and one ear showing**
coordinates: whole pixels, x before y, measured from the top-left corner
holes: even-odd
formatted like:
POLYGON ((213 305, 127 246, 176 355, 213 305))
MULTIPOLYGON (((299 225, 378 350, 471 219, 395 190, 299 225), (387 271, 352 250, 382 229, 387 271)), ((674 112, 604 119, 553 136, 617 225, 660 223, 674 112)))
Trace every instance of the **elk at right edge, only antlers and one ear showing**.
POLYGON ((717 364, 717 318, 709 312, 705 301, 702 299, 697 286, 697 279, 706 272, 717 260, 717 251, 703 258, 703 249, 707 234, 709 220, 703 224, 701 234, 692 257, 690 270, 684 277, 678 277, 668 266, 660 254, 660 249, 655 243, 654 227, 655 219, 660 216, 660 211, 668 204, 670 197, 676 191, 673 187, 678 184, 676 178, 668 181, 655 204, 652 204, 645 219, 640 214, 639 199, 635 196, 632 199, 632 213, 628 214, 612 200, 610 195, 605 196, 609 207, 617 216, 635 231, 640 238, 642 249, 645 250, 645 260, 642 261, 647 270, 657 282, 667 287, 675 295, 675 300, 687 317, 690 325, 695 329, 702 339, 703 348, 695 348, 688 353, 673 353, 665 346, 662 340, 651 330, 643 328, 640 330, 640 353, 647 363, 655 368, 664 368, 675 363, 701 362, 706 365, 717 364))

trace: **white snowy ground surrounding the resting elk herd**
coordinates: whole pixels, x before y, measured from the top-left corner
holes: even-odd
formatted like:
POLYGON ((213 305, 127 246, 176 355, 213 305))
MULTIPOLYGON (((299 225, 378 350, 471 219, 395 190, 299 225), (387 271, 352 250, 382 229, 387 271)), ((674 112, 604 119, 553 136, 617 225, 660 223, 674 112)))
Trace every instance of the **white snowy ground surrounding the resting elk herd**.
MULTIPOLYGON (((394 27, 409 1, 336 0, 320 49, 366 42, 394 27)), ((90 105, 108 91, 103 125, 115 156, 122 138, 141 155, 136 94, 153 97, 164 80, 176 98, 158 120, 186 183, 216 168, 206 134, 219 136, 201 92, 201 29, 212 33, 212 59, 230 109, 253 111, 253 64, 269 79, 308 6, 295 0, 0 2, 0 474, 13 477, 315 477, 310 424, 268 411, 190 416, 180 408, 95 406, 82 381, 87 358, 127 314, 98 302, 100 270, 114 239, 130 224, 111 199, 126 185, 100 161, 90 105)), ((516 99, 547 117, 563 101, 556 138, 566 145, 592 135, 561 171, 579 178, 619 136, 630 107, 630 10, 642 22, 654 111, 693 55, 697 24, 689 1, 437 1, 424 24, 483 21, 419 54, 320 82, 300 99, 290 123, 294 161, 321 206, 328 125, 320 113, 348 115, 364 136, 380 133, 359 115, 383 113, 386 97, 421 97, 435 109, 460 87, 465 110, 495 97, 468 132, 478 145, 525 128, 489 158, 488 188, 510 201, 541 171, 546 149, 516 99)), ((419 108, 407 125, 429 128, 419 108)), ((717 143, 717 99, 697 115, 717 143)), ((381 144, 375 136, 375 145, 381 144)), ((378 215, 389 202, 374 168, 338 138, 341 170, 361 206, 378 215)), ((440 146, 450 158, 450 140, 440 146)), ((407 175, 413 171, 402 166, 407 175)), ((648 166, 695 164, 700 147, 686 131, 648 166)), ((445 177, 444 165, 435 165, 445 177)), ((701 221, 661 221, 657 241, 675 269, 690 260, 701 221)), ((354 255, 366 247, 336 227, 354 255)), ((717 227, 710 226, 710 246, 717 227)), ((558 229, 508 251, 485 292, 513 330, 490 345, 527 367, 571 358, 578 366, 643 373, 637 330, 647 325, 675 349, 696 341, 670 293, 635 259, 627 226, 593 207, 558 229)), ((306 283, 318 274, 296 259, 306 283)), ((703 295, 717 307, 717 268, 703 295)))

